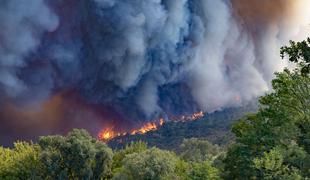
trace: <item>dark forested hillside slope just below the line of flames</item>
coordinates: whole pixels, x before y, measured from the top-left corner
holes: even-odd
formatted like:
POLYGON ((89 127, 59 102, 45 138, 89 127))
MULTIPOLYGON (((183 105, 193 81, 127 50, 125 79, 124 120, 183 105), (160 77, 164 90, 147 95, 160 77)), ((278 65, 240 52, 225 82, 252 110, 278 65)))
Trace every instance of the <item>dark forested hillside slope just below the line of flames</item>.
POLYGON ((131 141, 144 141, 149 146, 177 151, 184 138, 206 138, 212 143, 226 146, 233 141, 230 132, 232 123, 245 114, 255 112, 256 103, 252 102, 243 107, 229 108, 206 114, 203 118, 190 122, 167 122, 156 131, 146 134, 126 135, 108 142, 109 146, 118 149, 131 141))

